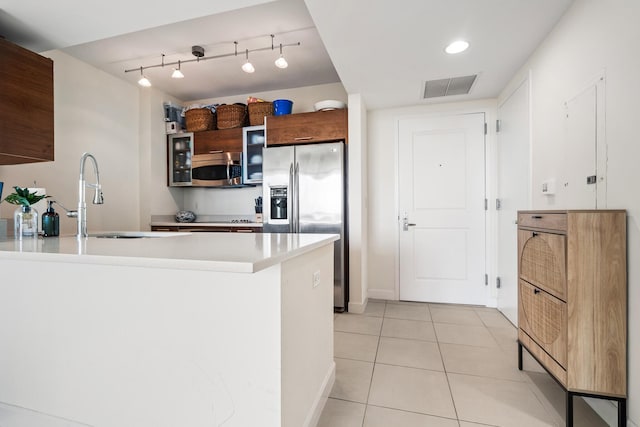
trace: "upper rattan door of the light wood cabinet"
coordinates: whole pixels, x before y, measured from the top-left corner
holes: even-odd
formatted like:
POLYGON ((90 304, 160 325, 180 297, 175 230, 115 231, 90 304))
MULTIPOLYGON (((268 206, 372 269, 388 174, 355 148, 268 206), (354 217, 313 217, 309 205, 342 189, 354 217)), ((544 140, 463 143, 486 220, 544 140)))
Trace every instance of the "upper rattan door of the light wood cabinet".
POLYGON ((566 236, 518 230, 520 278, 567 301, 566 236))

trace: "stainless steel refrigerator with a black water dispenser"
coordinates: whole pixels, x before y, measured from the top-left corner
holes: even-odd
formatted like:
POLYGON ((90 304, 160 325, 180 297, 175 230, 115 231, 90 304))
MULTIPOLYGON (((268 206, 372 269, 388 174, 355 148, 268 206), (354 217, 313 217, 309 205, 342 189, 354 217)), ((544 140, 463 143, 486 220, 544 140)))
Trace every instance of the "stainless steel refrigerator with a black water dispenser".
POLYGON ((334 307, 348 302, 345 144, 267 147, 262 155, 263 231, 339 234, 334 307))

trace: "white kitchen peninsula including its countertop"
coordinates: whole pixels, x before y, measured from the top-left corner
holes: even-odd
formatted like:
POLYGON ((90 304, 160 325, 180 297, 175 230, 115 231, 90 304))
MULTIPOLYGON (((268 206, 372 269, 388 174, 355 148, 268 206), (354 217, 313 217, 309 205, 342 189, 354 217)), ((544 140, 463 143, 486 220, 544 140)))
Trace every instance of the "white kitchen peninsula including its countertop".
POLYGON ((140 235, 0 241, 0 402, 105 427, 315 425, 337 236, 140 235))

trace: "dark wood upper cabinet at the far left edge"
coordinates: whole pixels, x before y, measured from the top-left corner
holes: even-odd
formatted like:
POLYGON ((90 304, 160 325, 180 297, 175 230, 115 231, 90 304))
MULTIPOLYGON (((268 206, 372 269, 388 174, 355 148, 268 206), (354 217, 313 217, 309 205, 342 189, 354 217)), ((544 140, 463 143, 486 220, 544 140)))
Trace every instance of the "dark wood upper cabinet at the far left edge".
POLYGON ((0 165, 53 160, 53 61, 0 38, 0 165))

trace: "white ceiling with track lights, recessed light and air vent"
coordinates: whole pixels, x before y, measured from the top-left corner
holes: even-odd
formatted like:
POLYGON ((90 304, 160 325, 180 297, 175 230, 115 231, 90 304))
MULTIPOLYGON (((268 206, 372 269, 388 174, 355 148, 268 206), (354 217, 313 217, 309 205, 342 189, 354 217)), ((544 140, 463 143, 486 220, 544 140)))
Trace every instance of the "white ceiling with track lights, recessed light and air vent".
POLYGON ((119 78, 165 62, 239 55, 144 73, 154 87, 183 101, 341 81, 368 108, 495 97, 553 28, 571 0, 0 0, 0 34, 35 51, 63 49, 119 78), (244 49, 300 42, 249 54, 256 72, 240 70, 244 49), (471 47, 444 53, 452 40, 471 47), (478 74, 468 95, 422 99, 426 80, 478 74))

